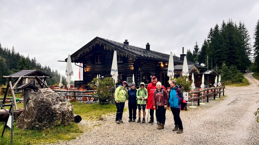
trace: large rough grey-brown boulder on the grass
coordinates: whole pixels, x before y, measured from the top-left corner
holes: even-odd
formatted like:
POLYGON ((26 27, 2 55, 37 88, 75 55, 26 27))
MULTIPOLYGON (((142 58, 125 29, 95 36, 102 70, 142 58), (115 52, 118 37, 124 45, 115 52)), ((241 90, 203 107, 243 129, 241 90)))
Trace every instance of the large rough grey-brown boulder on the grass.
POLYGON ((67 126, 73 121, 73 105, 65 101, 63 93, 40 89, 28 102, 16 125, 22 130, 44 130, 57 125, 67 126))

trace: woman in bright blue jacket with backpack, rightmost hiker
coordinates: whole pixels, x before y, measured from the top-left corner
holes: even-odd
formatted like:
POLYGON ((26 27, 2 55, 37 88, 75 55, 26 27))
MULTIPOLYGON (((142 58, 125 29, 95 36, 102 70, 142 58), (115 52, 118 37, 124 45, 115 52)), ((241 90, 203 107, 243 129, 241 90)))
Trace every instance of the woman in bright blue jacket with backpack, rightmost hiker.
POLYGON ((175 127, 173 131, 177 131, 178 134, 183 133, 183 127, 182 127, 182 120, 180 118, 180 103, 182 102, 183 95, 182 95, 182 89, 179 88, 178 85, 176 85, 176 81, 172 80, 170 81, 170 91, 169 91, 169 97, 168 97, 168 107, 171 108, 171 111, 174 115, 174 124, 175 127))

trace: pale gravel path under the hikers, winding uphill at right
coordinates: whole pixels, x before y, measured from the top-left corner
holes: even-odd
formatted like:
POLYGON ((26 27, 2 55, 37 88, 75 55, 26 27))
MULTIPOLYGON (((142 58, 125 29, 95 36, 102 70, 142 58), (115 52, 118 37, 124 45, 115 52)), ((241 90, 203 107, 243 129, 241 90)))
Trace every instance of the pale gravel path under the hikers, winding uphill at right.
POLYGON ((259 81, 251 73, 244 76, 250 86, 227 87, 227 97, 181 111, 182 134, 172 131, 174 119, 170 110, 166 111, 163 130, 158 130, 156 124, 128 122, 126 111, 121 124, 115 123, 115 113, 105 116, 105 121, 83 120, 79 125, 89 126, 87 132, 58 144, 259 144, 259 124, 254 115, 259 106, 255 102, 259 100, 259 81))

